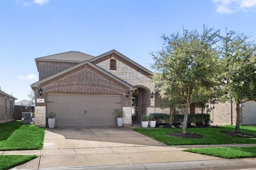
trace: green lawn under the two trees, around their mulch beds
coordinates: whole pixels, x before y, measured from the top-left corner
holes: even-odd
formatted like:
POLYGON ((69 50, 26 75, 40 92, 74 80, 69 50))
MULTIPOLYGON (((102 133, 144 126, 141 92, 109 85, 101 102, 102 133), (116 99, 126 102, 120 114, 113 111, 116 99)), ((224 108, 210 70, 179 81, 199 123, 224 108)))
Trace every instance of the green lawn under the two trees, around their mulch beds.
MULTIPOLYGON (((221 131, 235 131, 235 126, 218 128, 187 128, 186 132, 201 134, 204 138, 176 138, 168 136, 171 132, 182 132, 182 128, 134 128, 134 131, 149 136, 168 146, 191 144, 256 144, 256 138, 240 138, 222 134, 221 131)), ((240 132, 256 134, 256 127, 240 126, 240 132)))

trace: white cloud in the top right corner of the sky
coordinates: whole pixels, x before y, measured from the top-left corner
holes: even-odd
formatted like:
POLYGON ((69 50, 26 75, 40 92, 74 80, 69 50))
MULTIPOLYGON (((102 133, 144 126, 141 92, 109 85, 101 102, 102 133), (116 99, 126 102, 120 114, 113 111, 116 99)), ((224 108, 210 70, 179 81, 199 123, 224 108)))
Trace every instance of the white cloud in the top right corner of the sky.
POLYGON ((218 13, 232 13, 240 10, 256 10, 256 0, 213 0, 218 13))

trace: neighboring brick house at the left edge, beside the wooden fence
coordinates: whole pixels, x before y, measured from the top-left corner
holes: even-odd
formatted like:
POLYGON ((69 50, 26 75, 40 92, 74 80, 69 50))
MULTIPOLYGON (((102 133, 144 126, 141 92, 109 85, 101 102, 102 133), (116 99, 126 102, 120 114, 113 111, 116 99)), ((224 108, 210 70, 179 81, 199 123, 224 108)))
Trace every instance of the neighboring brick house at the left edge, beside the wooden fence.
POLYGON ((0 90, 0 123, 14 121, 15 100, 17 98, 0 90))

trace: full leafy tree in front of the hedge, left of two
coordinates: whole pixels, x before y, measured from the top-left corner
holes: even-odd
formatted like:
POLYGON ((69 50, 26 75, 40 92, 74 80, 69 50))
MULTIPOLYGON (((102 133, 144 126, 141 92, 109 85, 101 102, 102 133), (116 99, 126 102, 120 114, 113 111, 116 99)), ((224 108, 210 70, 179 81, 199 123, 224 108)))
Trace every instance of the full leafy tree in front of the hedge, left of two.
POLYGON ((214 86, 212 66, 217 59, 215 50, 218 31, 203 27, 200 34, 197 30, 183 29, 183 34, 163 35, 164 47, 158 52, 152 52, 155 63, 152 78, 160 95, 170 101, 186 105, 183 133, 186 133, 188 108, 198 99, 200 90, 214 86))

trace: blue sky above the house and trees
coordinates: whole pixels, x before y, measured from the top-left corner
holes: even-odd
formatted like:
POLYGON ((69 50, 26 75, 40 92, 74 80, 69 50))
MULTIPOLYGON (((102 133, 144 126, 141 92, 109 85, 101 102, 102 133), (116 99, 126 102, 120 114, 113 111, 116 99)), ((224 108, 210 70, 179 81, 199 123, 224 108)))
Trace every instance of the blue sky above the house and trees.
POLYGON ((150 69, 161 36, 203 25, 256 40, 256 0, 0 0, 0 86, 28 99, 35 58, 112 49, 150 69))

